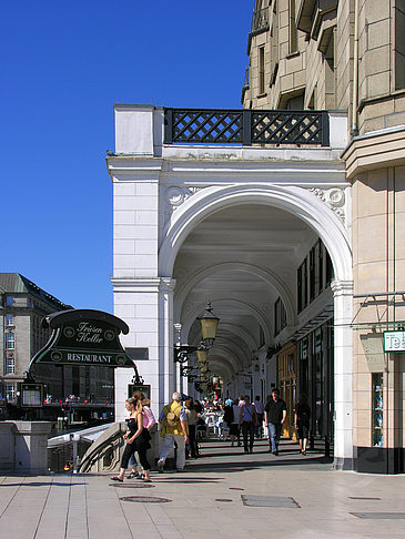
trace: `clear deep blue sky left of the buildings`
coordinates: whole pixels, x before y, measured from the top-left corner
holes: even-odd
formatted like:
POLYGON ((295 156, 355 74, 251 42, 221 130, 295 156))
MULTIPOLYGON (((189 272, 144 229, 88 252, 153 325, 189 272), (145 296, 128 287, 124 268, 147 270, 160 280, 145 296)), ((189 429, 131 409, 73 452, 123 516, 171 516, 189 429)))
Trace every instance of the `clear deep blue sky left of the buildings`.
POLYGON ((112 312, 113 104, 241 108, 253 4, 3 3, 0 272, 112 312))

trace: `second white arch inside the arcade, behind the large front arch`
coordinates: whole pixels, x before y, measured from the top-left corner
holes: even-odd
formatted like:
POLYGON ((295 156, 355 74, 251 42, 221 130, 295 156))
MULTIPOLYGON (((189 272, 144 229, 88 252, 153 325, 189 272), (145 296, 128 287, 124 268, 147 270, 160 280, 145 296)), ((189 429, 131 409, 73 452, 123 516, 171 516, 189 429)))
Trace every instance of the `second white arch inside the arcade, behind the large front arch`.
POLYGON ((174 321, 180 321, 181 311, 183 308, 185 298, 188 297, 190 291, 192 291, 198 283, 214 273, 221 273, 222 271, 226 270, 249 273, 264 281, 267 286, 275 288, 284 303, 287 315, 287 324, 296 324, 294 301, 290 289, 283 282, 283 279, 274 272, 263 270, 262 267, 259 267, 254 264, 247 264, 244 262, 223 262, 221 264, 214 264, 212 266, 200 270, 191 275, 188 281, 182 285, 181 291, 174 295, 174 321))

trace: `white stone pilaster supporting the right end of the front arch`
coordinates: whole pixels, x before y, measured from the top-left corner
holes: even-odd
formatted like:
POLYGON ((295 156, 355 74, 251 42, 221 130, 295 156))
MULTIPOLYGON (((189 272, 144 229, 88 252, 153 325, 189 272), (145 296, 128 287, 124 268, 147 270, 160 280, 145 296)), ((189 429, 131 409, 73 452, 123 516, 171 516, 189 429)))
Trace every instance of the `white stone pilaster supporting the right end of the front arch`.
POLYGON ((353 282, 333 281, 334 454, 337 469, 353 469, 353 282))

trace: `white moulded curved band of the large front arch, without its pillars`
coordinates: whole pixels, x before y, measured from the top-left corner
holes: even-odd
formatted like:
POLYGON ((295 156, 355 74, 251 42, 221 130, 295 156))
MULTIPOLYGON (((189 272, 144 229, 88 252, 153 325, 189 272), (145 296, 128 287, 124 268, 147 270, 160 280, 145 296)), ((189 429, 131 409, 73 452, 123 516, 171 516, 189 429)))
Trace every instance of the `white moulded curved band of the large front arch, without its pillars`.
POLYGON ((162 276, 172 276, 182 243, 207 215, 239 204, 269 204, 302 218, 325 244, 336 281, 352 281, 352 253, 347 230, 338 216, 317 196, 296 185, 252 184, 210 186, 190 196, 173 213, 159 253, 162 276))

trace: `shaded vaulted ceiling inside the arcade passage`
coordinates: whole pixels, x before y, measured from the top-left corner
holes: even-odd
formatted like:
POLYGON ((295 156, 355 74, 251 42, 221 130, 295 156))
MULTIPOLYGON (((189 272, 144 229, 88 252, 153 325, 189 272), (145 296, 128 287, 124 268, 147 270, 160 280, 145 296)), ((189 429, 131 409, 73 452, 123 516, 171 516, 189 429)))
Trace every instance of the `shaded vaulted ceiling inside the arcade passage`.
POLYGON ((201 338, 195 317, 211 301, 221 318, 210 368, 223 378, 241 372, 261 345, 274 344, 274 303, 282 297, 295 324, 296 268, 316 234, 286 211, 233 205, 211 214, 184 241, 174 266, 174 322, 182 340, 201 338))

